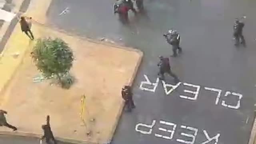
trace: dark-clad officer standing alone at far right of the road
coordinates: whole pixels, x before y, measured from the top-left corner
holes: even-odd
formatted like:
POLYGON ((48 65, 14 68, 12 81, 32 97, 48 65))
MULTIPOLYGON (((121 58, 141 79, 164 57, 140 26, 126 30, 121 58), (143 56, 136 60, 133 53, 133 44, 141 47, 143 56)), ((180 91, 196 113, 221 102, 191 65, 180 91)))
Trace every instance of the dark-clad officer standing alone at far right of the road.
POLYGON ((245 40, 243 36, 243 28, 244 28, 244 23, 239 21, 238 19, 235 20, 233 30, 234 30, 234 40, 235 40, 235 46, 238 46, 240 39, 241 43, 245 45, 245 40))

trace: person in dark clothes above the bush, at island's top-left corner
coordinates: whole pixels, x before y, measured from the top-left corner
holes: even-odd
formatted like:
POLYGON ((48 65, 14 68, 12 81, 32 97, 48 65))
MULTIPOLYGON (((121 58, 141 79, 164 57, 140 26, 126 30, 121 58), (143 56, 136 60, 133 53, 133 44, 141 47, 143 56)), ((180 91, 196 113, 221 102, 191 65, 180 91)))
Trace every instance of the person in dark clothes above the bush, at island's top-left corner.
POLYGON ((31 19, 30 20, 26 20, 24 16, 20 17, 20 27, 21 27, 21 30, 22 32, 25 32, 25 34, 31 39, 31 40, 34 40, 34 36, 31 32, 31 19), (28 34, 28 32, 30 33, 30 35, 28 34))

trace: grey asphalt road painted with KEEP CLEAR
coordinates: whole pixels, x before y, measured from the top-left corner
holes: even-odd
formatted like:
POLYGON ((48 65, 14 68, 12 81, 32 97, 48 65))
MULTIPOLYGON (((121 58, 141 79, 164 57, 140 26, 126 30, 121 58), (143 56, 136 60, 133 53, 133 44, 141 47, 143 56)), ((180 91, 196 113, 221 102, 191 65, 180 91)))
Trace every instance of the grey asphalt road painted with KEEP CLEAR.
MULTIPOLYGON (((112 144, 246 144, 256 100, 256 1, 145 0, 148 17, 131 16, 130 28, 112 14, 113 2, 53 0, 48 11, 51 24, 60 29, 106 37, 144 52, 133 87, 136 109, 122 114, 112 144), (67 7, 69 12, 60 15, 67 7), (247 16, 247 47, 235 48, 232 25, 243 15, 247 16), (170 94, 164 92, 161 82, 154 92, 141 90, 144 74, 156 82, 158 56, 172 54, 162 36, 168 28, 181 34, 184 53, 170 62, 182 83, 170 94), (184 92, 196 88, 197 96, 184 92), (220 97, 218 90, 208 88, 219 89, 220 97)), ((167 78, 166 82, 173 80, 167 78)), ((5 144, 27 144, 24 142, 5 144)))

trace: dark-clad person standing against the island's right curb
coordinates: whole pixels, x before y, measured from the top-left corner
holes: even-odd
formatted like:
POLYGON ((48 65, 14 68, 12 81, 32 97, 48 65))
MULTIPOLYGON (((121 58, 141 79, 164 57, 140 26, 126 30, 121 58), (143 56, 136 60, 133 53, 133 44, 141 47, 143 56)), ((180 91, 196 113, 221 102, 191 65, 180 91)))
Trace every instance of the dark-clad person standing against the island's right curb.
POLYGON ((122 98, 125 100, 125 106, 127 107, 127 111, 130 112, 132 108, 135 108, 132 99, 132 88, 130 86, 123 86, 121 93, 122 98))

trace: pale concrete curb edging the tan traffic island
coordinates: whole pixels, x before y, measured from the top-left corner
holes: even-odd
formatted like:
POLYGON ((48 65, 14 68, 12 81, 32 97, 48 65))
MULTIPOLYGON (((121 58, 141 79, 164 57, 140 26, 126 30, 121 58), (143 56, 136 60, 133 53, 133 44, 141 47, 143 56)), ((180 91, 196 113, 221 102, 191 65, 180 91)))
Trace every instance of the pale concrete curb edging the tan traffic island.
MULTIPOLYGON (((40 24, 38 22, 36 22, 37 24, 40 24)), ((40 24, 41 26, 44 26, 44 27, 48 27, 48 28, 51 28, 49 26, 45 26, 44 24, 40 24)), ((110 42, 102 42, 100 40, 94 40, 94 39, 90 39, 90 38, 81 38, 80 36, 77 36, 77 35, 74 35, 74 34, 70 34, 64 30, 59 30, 59 29, 55 29, 55 28, 51 28, 52 30, 56 30, 58 32, 61 32, 61 33, 65 33, 69 36, 75 36, 81 40, 86 40, 86 41, 89 41, 89 42, 93 42, 93 43, 96 43, 96 44, 102 44, 102 45, 106 45, 106 46, 111 46, 111 47, 114 47, 114 48, 120 48, 120 49, 124 49, 124 50, 127 50, 127 51, 133 51, 133 52, 136 52, 139 54, 139 59, 136 63, 136 66, 134 68, 134 72, 132 74, 132 77, 130 78, 130 80, 128 81, 128 84, 127 85, 130 85, 132 86, 133 82, 134 82, 134 79, 136 77, 136 74, 138 72, 138 68, 142 62, 142 57, 143 57, 143 52, 138 50, 138 49, 134 49, 134 48, 130 48, 130 47, 125 47, 125 46, 119 46, 117 44, 113 44, 113 43, 110 43, 110 42)), ((21 59, 20 61, 20 64, 22 64, 23 62, 23 59, 24 57, 21 59)), ((18 70, 18 67, 16 68, 16 70, 14 71, 14 73, 12 74, 12 76, 14 76, 14 74, 16 74, 16 71, 18 70)), ((8 85, 8 83, 7 83, 8 85)), ((120 107, 118 108, 118 114, 116 115, 116 121, 114 122, 114 126, 112 128, 112 132, 110 134, 110 136, 108 136, 108 141, 105 143, 105 144, 109 144, 112 140, 112 137, 114 136, 114 133, 115 133, 115 130, 116 130, 116 127, 118 125, 118 122, 119 122, 119 119, 120 119, 120 116, 122 114, 122 111, 123 111, 123 108, 124 108, 124 102, 122 102, 122 104, 120 104, 120 107)), ((10 132, 10 131, 0 131, 0 135, 6 135, 6 136, 22 136, 22 137, 35 137, 35 138, 41 138, 41 134, 32 134, 32 133, 28 133, 28 132, 10 132)), ((68 139, 68 138, 59 138, 59 137, 56 137, 56 140, 59 140, 59 141, 62 141, 62 142, 68 142, 68 143, 73 143, 73 144, 96 144, 96 143, 93 143, 93 142, 89 142, 89 141, 80 141, 80 140, 73 140, 73 139, 68 139)))

